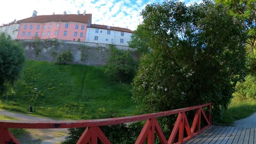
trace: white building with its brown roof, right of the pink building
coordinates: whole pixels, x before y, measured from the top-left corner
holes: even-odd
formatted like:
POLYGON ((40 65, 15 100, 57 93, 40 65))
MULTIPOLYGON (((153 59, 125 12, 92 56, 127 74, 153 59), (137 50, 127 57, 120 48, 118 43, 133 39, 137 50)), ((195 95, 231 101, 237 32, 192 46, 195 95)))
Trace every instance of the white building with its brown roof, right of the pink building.
POLYGON ((127 28, 91 24, 85 42, 128 46, 133 31, 127 28))

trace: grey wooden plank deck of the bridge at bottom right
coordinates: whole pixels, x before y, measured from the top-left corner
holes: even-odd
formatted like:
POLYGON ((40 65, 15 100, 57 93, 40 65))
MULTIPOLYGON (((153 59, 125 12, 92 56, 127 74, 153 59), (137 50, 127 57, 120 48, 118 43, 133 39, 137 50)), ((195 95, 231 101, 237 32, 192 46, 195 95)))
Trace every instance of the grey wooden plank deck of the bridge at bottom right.
POLYGON ((256 144, 256 128, 212 125, 186 143, 256 144))

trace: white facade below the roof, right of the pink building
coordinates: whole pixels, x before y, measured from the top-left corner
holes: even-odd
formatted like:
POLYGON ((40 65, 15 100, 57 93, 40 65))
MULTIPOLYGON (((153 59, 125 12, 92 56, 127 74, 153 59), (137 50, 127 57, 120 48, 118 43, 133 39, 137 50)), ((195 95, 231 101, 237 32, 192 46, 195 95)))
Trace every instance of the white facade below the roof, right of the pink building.
POLYGON ((86 42, 128 46, 131 33, 124 32, 124 36, 121 36, 121 31, 110 30, 110 34, 107 31, 107 29, 98 29, 97 33, 97 28, 87 28, 86 42), (95 36, 98 36, 98 40, 95 40, 95 36), (121 43, 121 39, 123 39, 123 43, 121 43))

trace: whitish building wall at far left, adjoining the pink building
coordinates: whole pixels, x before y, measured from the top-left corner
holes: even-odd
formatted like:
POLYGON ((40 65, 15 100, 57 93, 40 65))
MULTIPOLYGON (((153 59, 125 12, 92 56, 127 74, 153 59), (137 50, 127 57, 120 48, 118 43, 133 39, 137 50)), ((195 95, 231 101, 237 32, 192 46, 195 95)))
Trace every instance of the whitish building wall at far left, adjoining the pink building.
POLYGON ((19 33, 20 24, 14 24, 10 26, 0 27, 0 33, 10 35, 12 39, 17 39, 19 33))

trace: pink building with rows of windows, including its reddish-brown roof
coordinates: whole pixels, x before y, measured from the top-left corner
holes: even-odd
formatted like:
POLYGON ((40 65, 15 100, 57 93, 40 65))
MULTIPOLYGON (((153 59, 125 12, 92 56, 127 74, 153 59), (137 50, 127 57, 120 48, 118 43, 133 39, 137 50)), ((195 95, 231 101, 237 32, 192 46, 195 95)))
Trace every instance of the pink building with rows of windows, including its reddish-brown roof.
POLYGON ((92 14, 36 15, 20 20, 17 39, 61 39, 85 42, 92 14))

